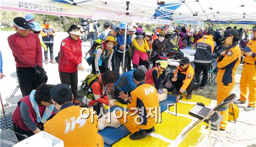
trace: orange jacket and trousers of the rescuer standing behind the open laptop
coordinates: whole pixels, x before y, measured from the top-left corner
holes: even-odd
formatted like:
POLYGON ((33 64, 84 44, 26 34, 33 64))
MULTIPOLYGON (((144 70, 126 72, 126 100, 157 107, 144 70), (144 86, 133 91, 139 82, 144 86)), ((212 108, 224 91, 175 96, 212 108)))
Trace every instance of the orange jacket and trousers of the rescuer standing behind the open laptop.
MULTIPOLYGON (((236 67, 241 61, 241 51, 237 43, 230 45, 227 48, 229 51, 224 58, 219 61, 217 58, 217 66, 219 71, 217 73, 217 104, 221 103, 226 97, 229 96, 230 92, 234 88, 236 67)), ((229 110, 220 112, 223 115, 220 128, 226 129, 229 117, 229 110)))

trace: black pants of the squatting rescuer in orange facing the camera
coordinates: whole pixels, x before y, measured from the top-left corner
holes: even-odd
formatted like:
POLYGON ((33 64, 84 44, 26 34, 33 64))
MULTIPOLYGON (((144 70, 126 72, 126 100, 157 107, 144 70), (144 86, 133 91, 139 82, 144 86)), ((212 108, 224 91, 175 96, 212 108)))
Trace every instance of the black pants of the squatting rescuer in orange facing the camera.
MULTIPOLYGON (((170 76, 170 81, 171 79, 174 77, 174 75, 171 75, 170 76)), ((183 80, 184 79, 181 79, 178 77, 177 81, 175 82, 172 82, 173 86, 175 87, 175 90, 180 90, 181 87, 182 87, 182 84, 183 84, 183 80)), ((188 94, 191 94, 192 93, 192 90, 195 90, 196 89, 196 84, 194 83, 194 81, 192 80, 190 83, 189 83, 189 86, 187 87, 186 91, 188 94)))

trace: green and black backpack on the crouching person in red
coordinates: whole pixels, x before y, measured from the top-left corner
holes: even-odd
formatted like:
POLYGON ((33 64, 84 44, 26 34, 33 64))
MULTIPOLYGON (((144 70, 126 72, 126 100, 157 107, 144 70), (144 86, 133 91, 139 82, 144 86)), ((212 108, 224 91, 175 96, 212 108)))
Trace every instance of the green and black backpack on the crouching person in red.
MULTIPOLYGON (((91 87, 91 85, 95 82, 98 81, 99 82, 99 74, 89 74, 83 81, 81 87, 80 87, 80 94, 87 96, 89 99, 93 99, 94 95, 92 91, 88 91, 88 89, 91 87)), ((101 89, 102 89, 102 84, 101 85, 101 89)))

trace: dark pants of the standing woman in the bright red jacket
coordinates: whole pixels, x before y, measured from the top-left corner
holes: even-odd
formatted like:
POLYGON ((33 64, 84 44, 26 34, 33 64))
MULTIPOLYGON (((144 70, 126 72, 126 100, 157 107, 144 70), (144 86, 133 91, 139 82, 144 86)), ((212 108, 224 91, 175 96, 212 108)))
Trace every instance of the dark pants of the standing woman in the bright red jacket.
POLYGON ((77 71, 73 73, 59 71, 61 83, 70 85, 74 99, 77 97, 77 85, 78 85, 78 75, 77 71))

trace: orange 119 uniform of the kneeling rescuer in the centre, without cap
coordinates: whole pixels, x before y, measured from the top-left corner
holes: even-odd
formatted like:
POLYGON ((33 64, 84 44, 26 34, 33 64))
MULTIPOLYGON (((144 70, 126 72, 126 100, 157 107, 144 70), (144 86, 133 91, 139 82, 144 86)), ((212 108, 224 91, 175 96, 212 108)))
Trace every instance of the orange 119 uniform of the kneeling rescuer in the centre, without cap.
MULTIPOLYGON (((130 114, 122 115, 118 121, 120 121, 132 134, 140 129, 150 129, 154 127, 155 119, 158 118, 155 116, 159 114, 159 102, 155 87, 145 82, 141 82, 138 84, 137 88, 131 92, 131 96, 131 102, 128 100, 126 101, 130 114), (135 111, 135 108, 138 110, 135 111), (138 119, 138 117, 142 117, 143 121, 139 121, 140 119, 138 119), (141 124, 139 125, 137 122, 141 122, 141 124)), ((120 113, 120 111, 116 112, 117 117, 121 115, 120 113)), ((124 112, 122 114, 124 114, 124 112)))

